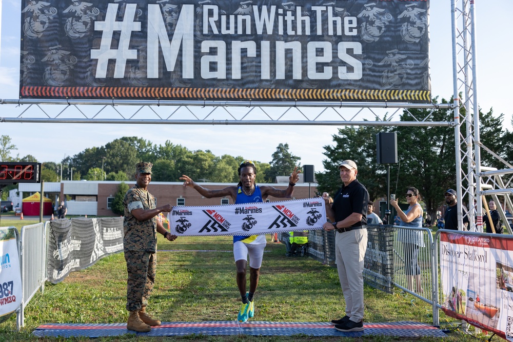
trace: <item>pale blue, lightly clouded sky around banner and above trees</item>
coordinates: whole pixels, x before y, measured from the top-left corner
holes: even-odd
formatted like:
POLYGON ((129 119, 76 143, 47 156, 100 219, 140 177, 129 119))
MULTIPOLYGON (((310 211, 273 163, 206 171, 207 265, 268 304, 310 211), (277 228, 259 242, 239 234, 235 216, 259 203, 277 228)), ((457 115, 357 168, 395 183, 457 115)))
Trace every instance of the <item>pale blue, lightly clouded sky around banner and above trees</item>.
MULTIPOLYGON (((19 0, 3 0, 2 3, 0 98, 4 99, 15 99, 18 96, 20 3, 19 0)), ((509 104, 513 68, 507 62, 513 55, 511 13, 511 0, 496 0, 493 5, 476 1, 478 103, 485 112, 493 107, 495 114, 504 113, 504 124, 509 130, 513 113, 509 104)), ((433 97, 448 99, 452 95, 451 49, 450 1, 433 0, 430 2, 430 74, 433 97)), ((271 109, 273 115, 284 111, 283 108, 271 109)), ((0 117, 17 116, 19 113, 20 110, 15 106, 0 105, 0 117)), ((289 151, 301 157, 301 164, 312 164, 315 171, 324 170, 323 147, 332 145, 332 135, 336 133, 337 127, 333 126, 0 123, 0 135, 9 135, 18 148, 14 154, 21 157, 31 154, 38 162, 60 162, 65 156, 77 154, 86 148, 100 147, 122 136, 138 136, 157 145, 170 140, 189 150, 208 149, 215 155, 241 155, 260 162, 270 162, 278 144, 288 143, 289 151)))

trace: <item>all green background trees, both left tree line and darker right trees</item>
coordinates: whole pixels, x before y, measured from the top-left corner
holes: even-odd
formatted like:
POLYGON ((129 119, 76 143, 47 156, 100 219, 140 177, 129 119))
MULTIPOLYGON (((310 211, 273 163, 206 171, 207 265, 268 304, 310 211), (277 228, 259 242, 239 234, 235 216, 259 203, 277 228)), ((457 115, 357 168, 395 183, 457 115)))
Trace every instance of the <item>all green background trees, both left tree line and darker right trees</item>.
MULTIPOLYGON (((437 103, 438 98, 433 99, 437 103)), ((450 100, 450 103, 452 100, 450 100)), ((448 103, 442 99, 441 103, 448 103)), ((462 108, 461 111, 464 111, 462 108)), ((464 114, 462 112, 462 114, 464 114)), ((513 160, 513 132, 504 129, 504 114, 495 116, 493 110, 479 111, 481 143, 504 160, 513 160)), ((403 111, 401 121, 412 121, 415 117, 430 117, 433 122, 450 122, 452 110, 409 109, 403 111)), ((382 120, 386 120, 385 116, 382 120)), ((513 119, 512 119, 513 124, 513 119)), ((318 191, 334 193, 340 186, 338 165, 342 160, 352 159, 358 164, 358 179, 364 184, 371 199, 387 194, 387 165, 377 164, 376 134, 395 132, 398 140, 398 164, 390 165, 390 193, 398 194, 400 202, 410 186, 419 189, 427 213, 434 216, 438 206, 444 203, 443 194, 448 188, 456 187, 455 139, 452 127, 429 126, 347 126, 333 135, 333 145, 324 146, 324 172, 315 174, 318 191)), ((466 136, 465 125, 461 136, 466 136)), ((7 135, 0 136, 0 159, 2 161, 36 162, 26 155, 12 157, 16 147, 7 135)), ((257 183, 274 183, 276 176, 290 174, 295 166, 300 166, 301 157, 289 151, 288 144, 279 144, 269 163, 253 160, 257 166, 257 183)), ((87 148, 68 156, 61 163, 43 163, 42 179, 57 182, 60 168, 63 179, 117 180, 133 179, 134 165, 140 161, 153 163, 152 180, 178 182, 182 174, 187 174, 198 182, 237 183, 237 169, 242 156, 216 156, 210 150, 190 151, 182 145, 167 140, 164 145, 156 145, 139 137, 122 137, 101 147, 87 148), (103 164, 103 165, 102 165, 103 164), (103 167, 103 172, 102 172, 103 167), (102 178, 103 177, 103 178, 102 178)), ((482 165, 503 169, 500 160, 482 150, 482 165)), ((463 161, 463 164, 465 161, 463 161)), ((465 186, 465 185, 464 185, 465 186)))

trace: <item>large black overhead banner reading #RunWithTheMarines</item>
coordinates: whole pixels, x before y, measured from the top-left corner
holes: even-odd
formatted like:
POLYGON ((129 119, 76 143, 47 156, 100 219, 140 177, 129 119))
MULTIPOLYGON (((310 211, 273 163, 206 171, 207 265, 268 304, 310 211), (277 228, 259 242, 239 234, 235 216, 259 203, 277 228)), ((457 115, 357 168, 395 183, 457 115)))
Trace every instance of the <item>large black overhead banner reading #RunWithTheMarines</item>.
POLYGON ((430 102, 428 0, 21 9, 21 98, 430 102))

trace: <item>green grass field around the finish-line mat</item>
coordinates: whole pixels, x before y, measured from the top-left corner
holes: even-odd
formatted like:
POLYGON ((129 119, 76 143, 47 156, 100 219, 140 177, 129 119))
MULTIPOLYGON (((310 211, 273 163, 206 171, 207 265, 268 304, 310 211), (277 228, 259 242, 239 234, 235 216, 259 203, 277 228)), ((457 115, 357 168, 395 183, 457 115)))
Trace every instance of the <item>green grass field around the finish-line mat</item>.
MULTIPOLYGON (((37 222, 2 218, 2 226, 37 222)), ((240 296, 235 283, 231 237, 180 237, 168 242, 159 235, 157 276, 148 312, 163 321, 235 320, 240 296), (200 250, 212 250, 202 252, 200 250)), ((411 295, 386 294, 365 287, 365 322, 416 321, 432 324, 432 308, 411 295)), ((2 341, 60 341, 40 338, 31 332, 48 323, 125 323, 126 265, 123 253, 98 260, 88 269, 72 272, 62 283, 47 283, 25 309, 25 327, 16 332, 15 316, 0 325, 2 341)), ((285 257, 285 246, 268 238, 255 296, 255 317, 263 321, 330 321, 343 316, 344 299, 336 268, 311 258, 285 257)), ((140 337, 124 335, 94 341, 475 341, 456 329, 458 321, 440 311, 449 337, 365 338, 295 336, 200 336, 140 337)), ((472 330, 473 333, 473 329, 472 330)), ((486 340, 489 336, 478 335, 486 340)), ((69 339, 66 339, 69 340, 69 339)), ((86 341, 86 338, 71 340, 86 341)), ((492 340, 502 340, 494 336, 492 340)))

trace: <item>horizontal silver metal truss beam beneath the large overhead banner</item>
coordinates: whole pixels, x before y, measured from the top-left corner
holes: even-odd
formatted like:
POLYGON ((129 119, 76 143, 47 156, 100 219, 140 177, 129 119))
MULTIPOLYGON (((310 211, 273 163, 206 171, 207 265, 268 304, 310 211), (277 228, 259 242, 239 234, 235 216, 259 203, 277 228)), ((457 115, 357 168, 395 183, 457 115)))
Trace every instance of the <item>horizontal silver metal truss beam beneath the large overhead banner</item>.
POLYGON ((11 116, 2 123, 90 123, 170 125, 453 126, 433 122, 432 113, 452 104, 359 102, 251 102, 159 100, 3 99, 11 116), (27 105, 27 106, 25 106, 27 105), (410 109, 425 109, 416 117, 410 109), (401 121, 406 111, 411 121, 401 121), (386 116, 386 119, 384 117, 386 116))

